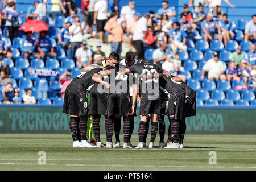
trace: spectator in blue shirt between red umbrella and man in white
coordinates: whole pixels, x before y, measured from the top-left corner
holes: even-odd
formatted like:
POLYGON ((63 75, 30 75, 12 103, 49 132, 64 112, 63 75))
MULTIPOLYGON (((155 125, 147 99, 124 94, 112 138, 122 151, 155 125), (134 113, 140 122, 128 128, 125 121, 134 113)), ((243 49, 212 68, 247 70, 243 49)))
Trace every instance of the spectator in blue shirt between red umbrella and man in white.
POLYGON ((59 34, 58 34, 58 40, 59 45, 67 51, 68 48, 71 48, 70 43, 70 34, 69 34, 69 27, 71 26, 71 23, 68 22, 64 24, 63 28, 61 28, 59 34))

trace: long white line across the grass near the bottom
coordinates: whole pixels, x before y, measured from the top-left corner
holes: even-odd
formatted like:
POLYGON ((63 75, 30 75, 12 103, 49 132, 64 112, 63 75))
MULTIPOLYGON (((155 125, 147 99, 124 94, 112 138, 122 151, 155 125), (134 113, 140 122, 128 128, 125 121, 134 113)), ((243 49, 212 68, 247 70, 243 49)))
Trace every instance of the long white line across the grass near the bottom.
POLYGON ((36 163, 0 163, 0 165, 31 165, 31 166, 80 166, 80 167, 169 167, 169 168, 256 168, 256 166, 156 166, 156 165, 106 165, 106 164, 43 164, 36 163))

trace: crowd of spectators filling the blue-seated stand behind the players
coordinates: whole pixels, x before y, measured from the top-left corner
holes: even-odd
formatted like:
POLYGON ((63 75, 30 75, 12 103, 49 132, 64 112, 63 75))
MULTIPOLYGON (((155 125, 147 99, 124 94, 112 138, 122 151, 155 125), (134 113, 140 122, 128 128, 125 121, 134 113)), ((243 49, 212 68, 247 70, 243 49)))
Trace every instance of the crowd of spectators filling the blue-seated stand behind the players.
MULTIPOLYGON (((236 7, 228 0, 224 1, 230 7, 236 7)), ((13 88, 9 65, 5 65, 2 61, 8 58, 15 63, 13 52, 8 48, 6 40, 2 39, 3 28, 6 28, 6 34, 12 45, 14 45, 14 39, 20 36, 20 55, 27 59, 29 64, 33 59, 42 59, 44 64, 47 59, 57 59, 56 47, 61 47, 66 55, 70 52, 70 57, 75 61, 76 67, 81 69, 93 64, 97 57, 105 56, 104 49, 101 49, 102 46, 109 43, 112 52, 121 53, 122 44, 126 42, 129 45, 129 51, 136 52, 137 59, 145 57, 146 49, 154 49, 151 61, 181 77, 184 82, 188 79, 184 73, 184 62, 189 57, 184 60, 181 53, 186 52, 189 55, 192 50, 189 47, 189 41, 196 44, 197 41, 204 40, 209 45, 206 49, 209 49, 212 48, 210 46, 213 40, 219 40, 224 46, 222 49, 225 49, 230 40, 236 40, 236 23, 221 10, 221 0, 189 0, 188 5, 183 6, 180 14, 177 14, 170 1, 162 1, 160 9, 155 12, 148 11, 145 14, 136 11, 134 1, 129 1, 122 8, 118 6, 117 0, 83 0, 81 2, 82 6, 79 8, 76 7, 74 0, 34 0, 28 7, 26 15, 15 10, 15 0, 3 3, 0 19, 2 25, 0 86, 4 87, 1 89, 4 103, 20 103, 17 98, 20 98, 20 91, 13 88), (52 13, 47 13, 49 3, 57 3, 57 5, 52 5, 52 13), (189 7, 193 7, 193 10, 189 11, 189 7), (208 12, 204 10, 205 7, 209 7, 208 12), (42 20, 48 26, 54 27, 56 23, 54 17, 59 16, 59 11, 65 20, 54 41, 49 36, 49 31, 38 33, 28 31, 24 32, 23 36, 19 35, 18 28, 22 24, 22 19, 42 20), (108 32, 108 42, 105 42, 105 32, 108 32), (84 34, 90 34, 87 41, 84 39, 84 34), (96 36, 99 42, 96 44, 96 50, 92 51, 87 43, 96 36)), ((232 80, 242 80, 246 89, 255 88, 256 15, 252 16, 252 19, 246 23, 245 30, 242 31, 244 39, 237 41, 236 50, 232 50, 230 61, 221 60, 221 50, 214 50, 212 58, 205 60, 206 63, 201 67, 201 79, 228 80, 230 84, 232 80), (249 51, 243 50, 243 42, 250 42, 249 51)), ((202 50, 203 53, 206 49, 202 50)), ((198 64, 199 61, 197 61, 198 64)), ((71 75, 71 71, 67 71, 57 78, 62 85, 59 93, 61 97, 64 97, 65 88, 72 80, 71 75)), ((37 98, 47 98, 49 78, 45 76, 39 78, 37 98)), ((31 93, 31 89, 26 90, 24 103, 35 103, 31 93)))

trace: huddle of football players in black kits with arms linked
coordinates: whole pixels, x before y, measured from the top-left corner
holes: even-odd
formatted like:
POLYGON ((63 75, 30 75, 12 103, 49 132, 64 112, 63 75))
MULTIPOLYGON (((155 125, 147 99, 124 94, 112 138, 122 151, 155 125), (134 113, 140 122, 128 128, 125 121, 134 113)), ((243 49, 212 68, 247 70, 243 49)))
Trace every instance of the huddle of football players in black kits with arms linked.
POLYGON ((127 52, 125 59, 120 59, 118 53, 112 52, 109 57, 97 57, 94 64, 83 68, 73 78, 65 90, 63 113, 70 114, 73 147, 121 147, 119 135, 123 117, 123 148, 147 147, 150 120, 151 139, 148 148, 154 148, 158 130, 159 147, 183 148, 185 118, 196 115, 196 93, 179 77, 156 64, 144 59, 136 60, 134 52, 127 52), (134 117, 137 117, 137 101, 140 122, 139 142, 135 147, 130 139, 134 130, 134 117), (166 143, 165 115, 170 121, 166 143), (105 117, 106 144, 100 139, 101 116, 105 117), (87 138, 88 118, 93 118, 96 138, 93 143, 87 138))

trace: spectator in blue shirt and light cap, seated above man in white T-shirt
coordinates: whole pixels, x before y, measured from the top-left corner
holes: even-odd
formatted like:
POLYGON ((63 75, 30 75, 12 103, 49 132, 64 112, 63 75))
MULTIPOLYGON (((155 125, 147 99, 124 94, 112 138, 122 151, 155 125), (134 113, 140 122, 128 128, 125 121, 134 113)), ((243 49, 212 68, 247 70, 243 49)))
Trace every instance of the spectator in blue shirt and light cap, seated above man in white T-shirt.
POLYGON ((218 39, 222 41, 220 26, 213 21, 213 16, 210 13, 207 13, 205 20, 201 23, 201 36, 204 37, 204 40, 210 42, 212 39, 218 39), (216 28, 218 34, 216 34, 216 28))

